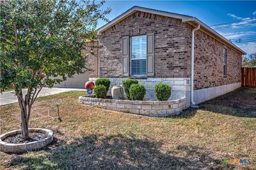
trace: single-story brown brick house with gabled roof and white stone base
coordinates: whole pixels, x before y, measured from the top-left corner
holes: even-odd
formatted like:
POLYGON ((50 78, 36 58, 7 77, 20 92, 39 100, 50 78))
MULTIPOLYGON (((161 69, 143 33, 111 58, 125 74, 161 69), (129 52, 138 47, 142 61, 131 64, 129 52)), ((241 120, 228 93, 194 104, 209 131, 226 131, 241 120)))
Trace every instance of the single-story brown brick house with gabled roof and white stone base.
POLYGON ((155 84, 166 82, 172 85, 170 99, 186 97, 187 107, 241 86, 246 53, 195 17, 134 6, 98 34, 99 51, 88 61, 91 81, 108 77, 113 86, 132 77, 152 98, 155 84))

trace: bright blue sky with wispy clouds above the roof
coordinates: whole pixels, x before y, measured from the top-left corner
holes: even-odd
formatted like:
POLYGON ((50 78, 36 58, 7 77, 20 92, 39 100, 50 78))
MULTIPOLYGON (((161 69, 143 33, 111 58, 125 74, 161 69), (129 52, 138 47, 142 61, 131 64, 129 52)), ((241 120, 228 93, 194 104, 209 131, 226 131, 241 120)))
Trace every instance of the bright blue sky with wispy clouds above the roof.
MULTIPOLYGON (((196 17, 208 26, 234 42, 248 54, 256 52, 256 1, 108 1, 102 6, 111 12, 106 17, 115 19, 132 8, 142 6, 166 12, 196 17)), ((99 26, 106 22, 100 20, 99 26)))

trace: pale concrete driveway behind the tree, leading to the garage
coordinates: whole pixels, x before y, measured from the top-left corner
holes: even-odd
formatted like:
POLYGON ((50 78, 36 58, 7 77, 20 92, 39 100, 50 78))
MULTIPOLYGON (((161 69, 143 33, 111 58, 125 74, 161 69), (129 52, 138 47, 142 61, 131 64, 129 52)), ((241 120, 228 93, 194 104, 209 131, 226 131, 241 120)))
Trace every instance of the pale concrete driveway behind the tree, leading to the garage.
MULTIPOLYGON (((73 90, 79 90, 79 91, 85 91, 85 89, 79 89, 79 88, 43 88, 38 97, 44 97, 48 95, 54 95, 57 93, 62 93, 65 91, 73 91, 73 90)), ((27 89, 22 90, 23 94, 27 93, 27 89)), ((13 94, 13 91, 7 91, 3 92, 3 94, 0 95, 0 105, 6 105, 6 104, 13 104, 15 102, 18 102, 17 97, 13 94)))

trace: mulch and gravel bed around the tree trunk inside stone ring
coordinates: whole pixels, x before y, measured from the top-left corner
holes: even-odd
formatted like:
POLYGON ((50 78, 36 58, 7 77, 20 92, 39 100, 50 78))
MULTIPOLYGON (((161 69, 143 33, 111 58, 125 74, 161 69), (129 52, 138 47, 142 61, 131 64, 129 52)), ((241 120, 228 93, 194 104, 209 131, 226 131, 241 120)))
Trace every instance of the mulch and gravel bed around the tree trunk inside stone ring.
POLYGON ((5 143, 13 143, 13 144, 30 143, 34 141, 40 141, 42 139, 45 139, 46 137, 47 137, 47 134, 44 134, 44 133, 29 132, 29 138, 26 140, 22 139, 21 134, 17 134, 17 135, 10 135, 6 137, 3 141, 5 143))

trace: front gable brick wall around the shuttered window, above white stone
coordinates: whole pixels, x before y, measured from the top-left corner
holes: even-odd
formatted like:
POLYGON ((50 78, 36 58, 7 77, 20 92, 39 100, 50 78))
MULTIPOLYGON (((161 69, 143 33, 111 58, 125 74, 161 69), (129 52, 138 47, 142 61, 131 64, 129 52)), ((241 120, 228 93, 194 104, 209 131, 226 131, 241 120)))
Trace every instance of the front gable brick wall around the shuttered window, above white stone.
POLYGON ((99 36, 100 77, 122 77, 122 37, 155 33, 154 77, 187 77, 187 24, 136 12, 99 36))

